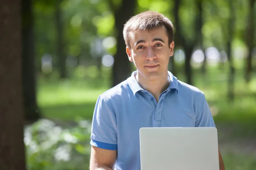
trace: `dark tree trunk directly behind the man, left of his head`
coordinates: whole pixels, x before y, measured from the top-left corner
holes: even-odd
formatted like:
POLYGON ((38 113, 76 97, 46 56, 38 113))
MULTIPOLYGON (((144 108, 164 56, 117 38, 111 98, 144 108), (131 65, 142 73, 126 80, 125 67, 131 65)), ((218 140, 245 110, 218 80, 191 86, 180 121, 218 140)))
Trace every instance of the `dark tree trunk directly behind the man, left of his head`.
POLYGON ((123 27, 127 20, 134 14, 136 0, 123 0, 120 8, 115 12, 115 25, 117 31, 117 51, 114 56, 113 64, 113 83, 112 86, 119 84, 130 76, 131 62, 125 52, 125 41, 123 39, 123 27))

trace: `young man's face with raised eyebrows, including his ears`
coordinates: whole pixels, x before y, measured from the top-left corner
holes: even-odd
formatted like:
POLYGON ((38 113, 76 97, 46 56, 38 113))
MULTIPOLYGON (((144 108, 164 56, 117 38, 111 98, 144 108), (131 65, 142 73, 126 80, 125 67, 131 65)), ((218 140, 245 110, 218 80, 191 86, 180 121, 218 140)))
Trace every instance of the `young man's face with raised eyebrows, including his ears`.
POLYGON ((131 48, 126 47, 126 52, 138 74, 145 78, 167 74, 174 42, 169 45, 166 28, 163 26, 150 31, 135 31, 130 37, 131 48))

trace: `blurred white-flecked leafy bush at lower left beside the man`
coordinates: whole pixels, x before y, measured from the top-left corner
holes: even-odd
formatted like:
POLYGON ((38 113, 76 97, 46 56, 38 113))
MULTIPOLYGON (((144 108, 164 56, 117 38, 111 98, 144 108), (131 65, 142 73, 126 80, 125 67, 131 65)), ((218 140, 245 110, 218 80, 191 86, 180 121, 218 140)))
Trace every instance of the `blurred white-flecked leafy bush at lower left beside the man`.
POLYGON ((40 119, 25 127, 28 170, 83 170, 89 167, 90 127, 87 120, 73 125, 40 119))

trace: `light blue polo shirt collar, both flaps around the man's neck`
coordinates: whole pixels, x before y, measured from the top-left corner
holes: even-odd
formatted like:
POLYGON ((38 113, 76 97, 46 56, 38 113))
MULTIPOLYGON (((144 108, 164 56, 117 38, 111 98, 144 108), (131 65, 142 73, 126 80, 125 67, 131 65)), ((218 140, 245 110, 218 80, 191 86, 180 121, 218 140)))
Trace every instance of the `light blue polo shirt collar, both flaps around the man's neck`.
MULTIPOLYGON (((144 91, 144 89, 139 85, 139 83, 137 82, 135 76, 137 75, 137 71, 132 72, 131 77, 128 78, 128 84, 133 92, 133 94, 135 95, 138 91, 144 91)), ((168 75, 170 78, 170 85, 169 85, 169 89, 176 89, 177 93, 179 91, 178 88, 178 80, 175 76, 173 76, 173 74, 168 71, 168 75)))

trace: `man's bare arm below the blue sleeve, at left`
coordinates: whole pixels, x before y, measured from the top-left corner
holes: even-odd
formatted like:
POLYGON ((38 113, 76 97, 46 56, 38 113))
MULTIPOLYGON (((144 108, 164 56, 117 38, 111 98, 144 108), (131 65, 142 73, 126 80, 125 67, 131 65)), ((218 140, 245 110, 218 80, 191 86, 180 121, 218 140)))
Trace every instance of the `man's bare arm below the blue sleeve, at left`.
POLYGON ((113 170, 116 163, 116 150, 107 150, 92 146, 90 170, 113 170))

